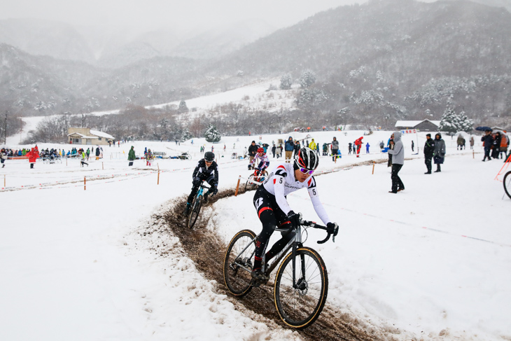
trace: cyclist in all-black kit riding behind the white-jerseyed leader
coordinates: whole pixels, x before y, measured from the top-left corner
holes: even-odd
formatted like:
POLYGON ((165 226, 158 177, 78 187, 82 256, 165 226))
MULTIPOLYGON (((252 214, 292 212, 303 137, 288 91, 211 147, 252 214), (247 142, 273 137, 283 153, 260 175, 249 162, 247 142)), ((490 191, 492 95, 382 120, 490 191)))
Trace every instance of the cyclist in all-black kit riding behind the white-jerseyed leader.
POLYGON ((206 181, 209 183, 209 190, 204 195, 204 202, 208 201, 208 195, 215 195, 218 193, 218 165, 216 164, 215 160, 215 154, 211 151, 208 151, 204 154, 204 158, 197 163, 197 167, 195 167, 195 170, 193 171, 192 178, 193 178, 193 188, 192 192, 188 196, 188 202, 186 202, 186 209, 184 211, 185 215, 188 215, 190 213, 190 207, 193 202, 193 197, 197 194, 197 190, 199 190, 199 187, 202 183, 202 181, 206 181))

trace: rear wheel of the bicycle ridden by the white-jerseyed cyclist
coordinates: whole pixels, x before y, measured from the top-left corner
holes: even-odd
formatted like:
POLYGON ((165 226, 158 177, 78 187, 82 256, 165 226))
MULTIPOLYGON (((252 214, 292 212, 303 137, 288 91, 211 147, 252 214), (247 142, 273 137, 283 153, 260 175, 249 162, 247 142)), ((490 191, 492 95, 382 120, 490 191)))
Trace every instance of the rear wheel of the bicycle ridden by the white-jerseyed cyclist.
POLYGON ((223 258, 223 281, 232 295, 244 296, 252 289, 251 271, 255 253, 255 233, 242 230, 232 237, 223 258))

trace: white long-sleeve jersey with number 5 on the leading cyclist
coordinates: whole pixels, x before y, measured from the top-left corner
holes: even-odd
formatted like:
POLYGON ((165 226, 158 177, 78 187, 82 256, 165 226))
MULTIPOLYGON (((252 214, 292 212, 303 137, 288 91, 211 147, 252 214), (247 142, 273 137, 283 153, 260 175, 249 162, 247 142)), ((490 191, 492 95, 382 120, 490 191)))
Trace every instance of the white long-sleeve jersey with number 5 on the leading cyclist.
POLYGON ((265 190, 267 190, 269 194, 275 196, 276 203, 285 214, 289 214, 291 211, 291 207, 286 200, 286 195, 301 188, 307 188, 318 217, 325 225, 331 222, 323 204, 321 204, 321 200, 319 200, 314 176, 309 176, 304 182, 297 181, 295 179, 295 169, 293 169, 292 162, 276 165, 276 167, 272 169, 272 172, 269 173, 269 176, 267 176, 262 186, 265 187, 265 190))

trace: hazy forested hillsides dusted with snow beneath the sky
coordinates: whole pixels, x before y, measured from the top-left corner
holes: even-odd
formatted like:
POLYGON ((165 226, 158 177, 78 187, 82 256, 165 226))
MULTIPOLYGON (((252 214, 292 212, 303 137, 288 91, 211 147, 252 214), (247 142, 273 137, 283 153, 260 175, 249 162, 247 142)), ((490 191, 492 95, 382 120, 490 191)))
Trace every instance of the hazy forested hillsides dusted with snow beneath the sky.
POLYGON ((274 76, 300 83, 310 71, 314 82, 293 108, 309 124, 391 127, 397 119, 438 120, 447 109, 475 123, 504 124, 511 115, 510 36, 503 7, 386 0, 318 13, 217 60, 155 57, 111 70, 2 45, 0 101, 25 115, 90 112, 274 76))

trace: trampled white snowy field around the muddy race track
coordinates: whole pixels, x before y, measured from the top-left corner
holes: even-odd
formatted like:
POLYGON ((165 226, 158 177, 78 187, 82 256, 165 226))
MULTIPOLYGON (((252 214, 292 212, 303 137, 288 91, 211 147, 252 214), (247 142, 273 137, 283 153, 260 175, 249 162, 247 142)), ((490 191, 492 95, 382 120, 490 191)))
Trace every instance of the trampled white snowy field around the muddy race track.
MULTIPOLYGON (((479 143, 475 155, 456 151, 447 137, 442 172, 424 175, 425 133, 407 134, 400 172, 406 190, 393 195, 386 163, 376 164, 374 174, 372 165, 352 167, 385 160, 378 143, 390 134, 365 137, 371 153, 363 148, 355 158, 347 144, 363 132, 310 133, 320 145, 336 136, 343 154, 336 164, 321 158, 318 174, 339 172, 316 177, 339 235, 319 245, 323 235, 309 230, 305 243, 328 268, 327 303, 373 326, 400 330, 397 340, 510 340, 511 200, 494 179, 503 163, 481 162, 479 143), (412 155, 412 139, 419 155, 412 155)), ((248 175, 247 162, 232 160, 232 153, 243 153, 253 139, 271 145, 288 136, 224 137, 214 145, 137 141, 103 147, 104 158, 84 168, 78 160, 38 161, 35 169, 27 160, 8 160, 0 169, 6 181, 0 183, 6 188, 0 192, 0 340, 300 340, 293 330, 235 309, 197 272, 176 237, 162 240, 168 253, 162 257, 139 235, 153 214, 189 193, 200 145, 214 146, 223 190, 248 175), (193 160, 155 160, 152 167, 137 160, 127 167, 131 145, 139 155, 148 147, 167 155, 188 151, 193 160)), ((225 240, 243 226, 259 232, 252 196, 218 201, 207 228, 225 240)), ((317 219, 305 191, 288 201, 317 219)))

